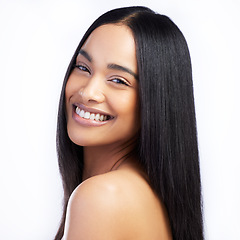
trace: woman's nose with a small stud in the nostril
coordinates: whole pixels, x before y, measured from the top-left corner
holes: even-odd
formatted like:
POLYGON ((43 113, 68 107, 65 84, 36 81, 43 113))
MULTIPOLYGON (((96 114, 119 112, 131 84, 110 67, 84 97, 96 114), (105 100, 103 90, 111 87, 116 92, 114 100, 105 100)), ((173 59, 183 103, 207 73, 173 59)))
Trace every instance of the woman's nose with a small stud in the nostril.
POLYGON ((89 79, 85 86, 79 89, 79 94, 85 104, 102 103, 105 100, 103 93, 103 81, 100 77, 92 77, 89 79))

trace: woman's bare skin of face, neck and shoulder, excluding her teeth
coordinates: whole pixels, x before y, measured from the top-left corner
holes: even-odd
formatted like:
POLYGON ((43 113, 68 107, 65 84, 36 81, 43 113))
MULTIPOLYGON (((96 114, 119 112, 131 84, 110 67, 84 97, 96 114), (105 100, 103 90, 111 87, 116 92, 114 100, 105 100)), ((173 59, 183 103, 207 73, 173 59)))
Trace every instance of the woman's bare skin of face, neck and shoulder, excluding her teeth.
POLYGON ((170 240, 163 204, 137 160, 124 158, 140 129, 133 35, 124 25, 103 25, 82 50, 65 95, 69 137, 84 146, 84 181, 70 197, 63 239, 170 240), (76 103, 112 119, 82 125, 73 118, 76 103))

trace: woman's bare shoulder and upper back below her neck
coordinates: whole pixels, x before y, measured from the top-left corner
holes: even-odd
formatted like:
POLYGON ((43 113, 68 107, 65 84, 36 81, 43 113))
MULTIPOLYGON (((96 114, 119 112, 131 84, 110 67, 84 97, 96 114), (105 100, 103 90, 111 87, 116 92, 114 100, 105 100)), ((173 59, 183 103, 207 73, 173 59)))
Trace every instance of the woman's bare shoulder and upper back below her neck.
POLYGON ((171 239, 168 230, 164 209, 147 182, 119 170, 91 177, 75 189, 64 239, 171 239))

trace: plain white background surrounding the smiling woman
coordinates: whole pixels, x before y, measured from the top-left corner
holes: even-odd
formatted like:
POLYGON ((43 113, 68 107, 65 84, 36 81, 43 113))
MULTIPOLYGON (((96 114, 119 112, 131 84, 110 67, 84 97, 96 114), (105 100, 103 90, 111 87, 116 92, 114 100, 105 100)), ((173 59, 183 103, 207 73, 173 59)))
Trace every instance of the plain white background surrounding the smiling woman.
POLYGON ((92 21, 130 5, 168 15, 187 39, 206 239, 240 239, 239 0, 0 0, 0 239, 53 239, 62 203, 55 131, 64 74, 92 21))

